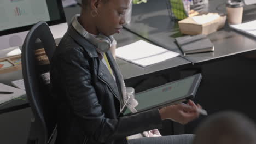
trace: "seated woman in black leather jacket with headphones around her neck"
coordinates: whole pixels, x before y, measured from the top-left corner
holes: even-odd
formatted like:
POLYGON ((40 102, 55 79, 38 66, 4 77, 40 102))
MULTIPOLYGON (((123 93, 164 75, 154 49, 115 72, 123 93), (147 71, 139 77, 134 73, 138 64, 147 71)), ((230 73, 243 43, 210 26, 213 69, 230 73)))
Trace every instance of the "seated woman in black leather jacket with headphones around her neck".
MULTIPOLYGON (((82 0, 51 61, 51 83, 57 97, 56 143, 190 143, 193 135, 127 140, 161 128, 163 119, 181 124, 199 116, 197 105, 171 105, 122 116, 126 93, 109 46, 120 33, 131 0, 82 0)), ((199 106, 200 107, 200 106, 199 106)))

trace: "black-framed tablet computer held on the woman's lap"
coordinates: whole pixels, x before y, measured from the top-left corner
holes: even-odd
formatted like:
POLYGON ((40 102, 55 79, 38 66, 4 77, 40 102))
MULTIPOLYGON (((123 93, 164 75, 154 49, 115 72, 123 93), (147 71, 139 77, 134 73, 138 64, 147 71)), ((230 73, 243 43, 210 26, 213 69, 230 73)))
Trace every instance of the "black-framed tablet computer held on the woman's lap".
MULTIPOLYGON (((147 91, 135 94, 138 105, 136 113, 154 108, 164 107, 173 103, 179 103, 195 97, 197 88, 202 79, 201 74, 195 74, 184 79, 166 83, 158 87, 150 88, 147 91)), ((129 109, 125 109, 124 115, 132 115, 129 109)))

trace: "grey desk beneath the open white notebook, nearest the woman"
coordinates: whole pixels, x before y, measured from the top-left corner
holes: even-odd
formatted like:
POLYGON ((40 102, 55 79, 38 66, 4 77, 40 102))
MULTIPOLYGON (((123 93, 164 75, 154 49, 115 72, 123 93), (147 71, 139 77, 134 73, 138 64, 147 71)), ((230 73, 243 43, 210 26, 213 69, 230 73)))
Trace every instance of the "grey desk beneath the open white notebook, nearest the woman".
MULTIPOLYGON (((118 41, 118 47, 142 39, 126 31, 125 29, 122 31, 122 34, 114 35, 114 37, 118 41)), ((189 61, 183 59, 182 57, 168 59, 167 61, 161 62, 161 64, 154 64, 145 68, 139 67, 138 65, 126 62, 119 58, 117 58, 117 63, 121 73, 124 76, 124 80, 127 83, 132 83, 133 80, 143 79, 143 77, 149 77, 150 75, 170 73, 170 71, 173 69, 182 69, 191 64, 189 61)), ((22 70, 1 74, 0 82, 11 85, 11 81, 18 79, 22 79, 22 70)), ((23 98, 26 99, 26 97, 23 98)), ((7 103, 0 104, 0 113, 23 109, 28 106, 29 104, 27 100, 15 99, 8 101, 7 103)))

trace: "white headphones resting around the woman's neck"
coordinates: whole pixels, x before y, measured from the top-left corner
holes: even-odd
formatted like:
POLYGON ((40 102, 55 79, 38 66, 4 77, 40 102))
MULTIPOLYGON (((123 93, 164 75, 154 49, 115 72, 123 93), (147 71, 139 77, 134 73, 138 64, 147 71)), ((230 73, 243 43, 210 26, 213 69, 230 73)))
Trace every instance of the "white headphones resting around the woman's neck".
POLYGON ((80 34, 82 35, 85 39, 89 40, 90 43, 92 43, 93 45, 97 46, 98 49, 100 49, 100 51, 102 52, 107 52, 110 48, 110 46, 112 45, 112 42, 114 40, 113 36, 110 35, 109 37, 107 37, 106 35, 103 34, 99 34, 96 35, 96 37, 90 33, 88 33, 84 27, 79 23, 78 21, 78 17, 80 15, 76 14, 71 23, 72 26, 74 27, 74 29, 80 34))

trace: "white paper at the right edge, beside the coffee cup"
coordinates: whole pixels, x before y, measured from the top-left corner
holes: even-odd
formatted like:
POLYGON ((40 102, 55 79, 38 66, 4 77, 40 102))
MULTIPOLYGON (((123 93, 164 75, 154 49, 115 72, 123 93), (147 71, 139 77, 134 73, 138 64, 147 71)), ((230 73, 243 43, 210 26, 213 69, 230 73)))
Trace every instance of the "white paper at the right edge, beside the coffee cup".
POLYGON ((252 35, 253 37, 256 37, 256 20, 229 26, 236 29, 237 31, 247 33, 249 35, 252 35))

